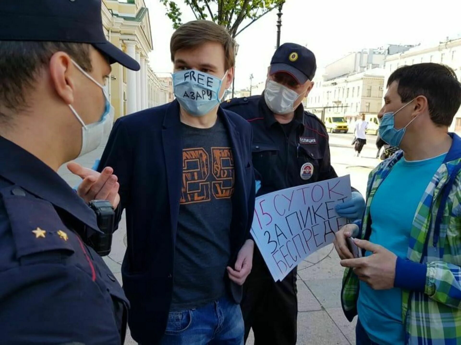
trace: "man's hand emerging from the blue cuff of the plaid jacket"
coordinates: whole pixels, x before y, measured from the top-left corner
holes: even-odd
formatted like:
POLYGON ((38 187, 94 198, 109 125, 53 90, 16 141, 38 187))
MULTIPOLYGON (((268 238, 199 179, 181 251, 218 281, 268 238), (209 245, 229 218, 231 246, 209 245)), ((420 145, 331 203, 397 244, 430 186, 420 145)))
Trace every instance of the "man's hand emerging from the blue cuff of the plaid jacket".
POLYGON ((364 240, 354 240, 355 244, 372 255, 359 259, 341 260, 344 267, 352 267, 354 273, 374 290, 388 290, 394 287, 396 277, 396 254, 386 248, 364 240))

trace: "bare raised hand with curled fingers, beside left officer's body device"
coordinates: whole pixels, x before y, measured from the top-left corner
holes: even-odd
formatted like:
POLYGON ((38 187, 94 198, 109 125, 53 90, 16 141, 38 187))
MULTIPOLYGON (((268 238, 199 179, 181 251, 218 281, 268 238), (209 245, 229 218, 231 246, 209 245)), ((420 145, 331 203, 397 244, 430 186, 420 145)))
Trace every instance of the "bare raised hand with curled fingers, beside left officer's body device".
POLYGON ((105 167, 102 173, 82 167, 80 164, 70 162, 67 168, 77 176, 83 178, 82 183, 78 186, 77 194, 85 202, 92 200, 107 200, 112 204, 115 209, 120 202, 118 195, 117 176, 113 175, 111 167, 105 167))

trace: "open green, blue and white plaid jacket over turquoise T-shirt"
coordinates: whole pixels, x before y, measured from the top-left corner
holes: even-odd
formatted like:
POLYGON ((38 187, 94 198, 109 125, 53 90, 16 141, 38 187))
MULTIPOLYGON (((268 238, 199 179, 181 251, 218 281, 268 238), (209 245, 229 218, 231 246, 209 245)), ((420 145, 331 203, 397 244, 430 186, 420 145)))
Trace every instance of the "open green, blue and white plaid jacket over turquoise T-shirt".
MULTIPOLYGON (((461 138, 450 135, 453 144, 421 197, 408 244, 407 259, 427 266, 424 293, 402 289, 402 320, 411 345, 461 345, 461 138)), ((373 196, 402 156, 397 152, 370 173, 362 239, 371 234, 373 196)), ((358 296, 359 279, 347 268, 341 302, 349 321, 357 315, 358 296)))

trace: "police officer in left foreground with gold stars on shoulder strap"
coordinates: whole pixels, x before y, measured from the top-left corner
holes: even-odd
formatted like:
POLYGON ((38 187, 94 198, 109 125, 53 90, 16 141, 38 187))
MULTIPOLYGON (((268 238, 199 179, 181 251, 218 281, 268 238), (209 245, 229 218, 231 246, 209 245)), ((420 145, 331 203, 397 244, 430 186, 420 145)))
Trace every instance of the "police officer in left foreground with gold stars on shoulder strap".
MULTIPOLYGON (((56 173, 110 131, 115 62, 139 69, 106 40, 101 0, 1 1, 1 344, 124 342, 128 301, 85 243, 95 212, 56 173)), ((98 183, 115 207, 116 177, 98 183)))

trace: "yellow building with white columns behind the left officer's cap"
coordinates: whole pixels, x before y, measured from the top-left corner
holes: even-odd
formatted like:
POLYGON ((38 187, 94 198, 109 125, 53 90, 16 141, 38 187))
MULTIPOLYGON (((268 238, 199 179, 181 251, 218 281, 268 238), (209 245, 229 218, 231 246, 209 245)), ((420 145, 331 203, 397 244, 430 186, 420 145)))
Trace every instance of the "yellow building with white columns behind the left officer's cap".
POLYGON ((144 0, 103 0, 102 23, 107 39, 136 59, 140 71, 112 66, 107 92, 115 119, 167 102, 167 88, 149 67, 152 51, 149 12, 144 0))

